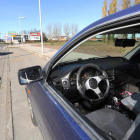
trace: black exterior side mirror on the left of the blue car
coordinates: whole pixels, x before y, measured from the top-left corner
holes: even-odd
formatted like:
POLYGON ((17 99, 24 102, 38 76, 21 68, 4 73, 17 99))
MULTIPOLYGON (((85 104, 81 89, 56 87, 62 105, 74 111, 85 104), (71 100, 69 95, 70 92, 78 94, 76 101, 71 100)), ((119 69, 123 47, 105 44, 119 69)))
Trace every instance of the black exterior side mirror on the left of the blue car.
POLYGON ((18 80, 20 85, 26 85, 43 79, 42 68, 34 66, 18 70, 18 80))

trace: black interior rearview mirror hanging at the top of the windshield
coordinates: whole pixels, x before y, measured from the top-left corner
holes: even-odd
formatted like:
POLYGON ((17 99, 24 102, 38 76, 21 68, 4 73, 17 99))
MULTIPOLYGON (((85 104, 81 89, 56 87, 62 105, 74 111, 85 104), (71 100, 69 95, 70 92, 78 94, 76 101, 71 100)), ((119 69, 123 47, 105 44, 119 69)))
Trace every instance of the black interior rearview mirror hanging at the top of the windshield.
POLYGON ((117 47, 134 47, 135 46, 135 39, 116 39, 115 46, 117 47))

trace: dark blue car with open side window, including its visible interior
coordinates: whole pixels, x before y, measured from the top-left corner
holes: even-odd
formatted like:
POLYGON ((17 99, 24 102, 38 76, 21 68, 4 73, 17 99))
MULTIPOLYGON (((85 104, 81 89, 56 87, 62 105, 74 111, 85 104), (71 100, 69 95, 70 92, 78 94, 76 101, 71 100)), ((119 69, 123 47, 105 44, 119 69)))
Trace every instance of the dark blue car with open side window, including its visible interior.
POLYGON ((18 71, 44 139, 139 139, 139 33, 140 4, 84 28, 43 69, 18 71))

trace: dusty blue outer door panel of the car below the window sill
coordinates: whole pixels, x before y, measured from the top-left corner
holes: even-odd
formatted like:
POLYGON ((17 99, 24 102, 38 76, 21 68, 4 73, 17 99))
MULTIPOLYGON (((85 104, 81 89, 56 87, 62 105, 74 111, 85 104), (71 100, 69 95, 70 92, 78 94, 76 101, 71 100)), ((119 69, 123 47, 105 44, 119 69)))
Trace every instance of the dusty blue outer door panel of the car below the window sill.
POLYGON ((46 87, 41 82, 30 85, 33 111, 44 139, 91 139, 46 87))

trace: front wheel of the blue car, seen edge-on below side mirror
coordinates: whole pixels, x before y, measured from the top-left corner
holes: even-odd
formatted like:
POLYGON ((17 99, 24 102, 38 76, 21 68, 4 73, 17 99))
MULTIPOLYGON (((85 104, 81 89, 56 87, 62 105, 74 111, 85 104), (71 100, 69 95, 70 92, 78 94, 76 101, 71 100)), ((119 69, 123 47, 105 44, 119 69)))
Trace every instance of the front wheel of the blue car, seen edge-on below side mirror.
POLYGON ((30 98, 28 95, 27 95, 27 100, 28 100, 28 106, 30 109, 30 116, 31 116, 32 123, 34 124, 34 126, 38 126, 33 109, 32 109, 32 106, 31 106, 31 101, 30 101, 30 98))

